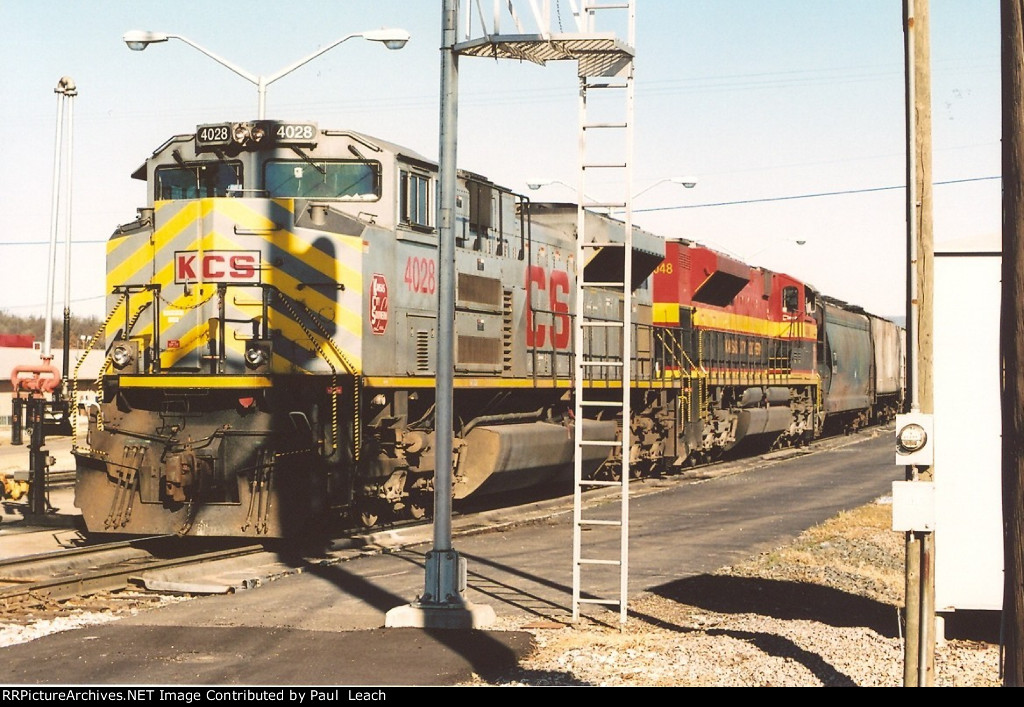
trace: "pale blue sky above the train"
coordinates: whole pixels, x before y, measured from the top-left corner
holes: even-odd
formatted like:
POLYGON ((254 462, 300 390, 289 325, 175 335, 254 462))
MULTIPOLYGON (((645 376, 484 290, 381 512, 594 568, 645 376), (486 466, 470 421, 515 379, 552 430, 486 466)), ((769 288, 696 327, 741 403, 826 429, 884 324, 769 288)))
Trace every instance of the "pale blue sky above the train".
MULTIPOLYGON (((523 14, 526 5, 516 0, 523 14)), ((102 317, 103 242, 145 204, 130 174, 174 134, 256 117, 252 83, 180 41, 130 51, 125 32, 181 35, 269 76, 346 35, 404 29, 400 51, 352 39, 271 84, 267 118, 366 132, 436 159, 441 6, 0 0, 0 309, 45 313, 56 233, 59 319, 70 213, 72 311, 102 317), (63 76, 78 95, 63 102, 71 188, 59 191, 54 228, 63 76)), ((567 28, 569 1, 552 6, 567 28)), ((900 0, 637 0, 634 222, 902 316, 901 15, 900 0), (669 181, 679 175, 696 185, 669 181)), ((1001 222, 998 1, 932 0, 930 22, 935 239, 991 237, 1001 222)), ((574 63, 462 57, 459 166, 535 200, 573 201, 573 189, 527 182, 577 182, 577 88, 574 63)))

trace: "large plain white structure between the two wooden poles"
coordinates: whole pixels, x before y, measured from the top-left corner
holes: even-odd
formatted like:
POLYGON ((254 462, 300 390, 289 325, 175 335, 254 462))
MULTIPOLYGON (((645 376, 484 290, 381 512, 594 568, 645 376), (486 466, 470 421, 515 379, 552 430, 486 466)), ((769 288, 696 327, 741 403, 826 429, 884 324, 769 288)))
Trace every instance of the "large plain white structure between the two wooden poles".
POLYGON ((998 235, 936 245, 935 609, 1002 607, 998 235))

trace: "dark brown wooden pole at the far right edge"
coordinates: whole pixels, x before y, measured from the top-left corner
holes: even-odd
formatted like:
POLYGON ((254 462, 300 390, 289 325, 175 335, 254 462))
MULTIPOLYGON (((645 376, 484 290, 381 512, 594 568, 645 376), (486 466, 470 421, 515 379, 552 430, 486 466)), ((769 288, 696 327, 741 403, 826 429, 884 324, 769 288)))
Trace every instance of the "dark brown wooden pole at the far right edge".
POLYGON ((1024 685, 1024 28, 1021 0, 1001 0, 1002 54, 1002 684, 1024 685))

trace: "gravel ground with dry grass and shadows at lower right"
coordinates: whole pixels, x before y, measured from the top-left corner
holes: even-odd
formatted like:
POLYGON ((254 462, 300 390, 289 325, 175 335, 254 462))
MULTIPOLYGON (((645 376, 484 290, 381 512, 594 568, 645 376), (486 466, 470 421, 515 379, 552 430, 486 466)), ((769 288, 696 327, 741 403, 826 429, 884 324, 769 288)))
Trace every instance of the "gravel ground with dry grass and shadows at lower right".
MULTIPOLYGON (((742 565, 638 596, 624 630, 617 614, 612 626, 502 620, 531 631, 536 651, 472 685, 901 687, 903 535, 891 518, 891 499, 880 499, 742 565)), ((952 623, 934 684, 1000 685, 997 634, 961 626, 970 637, 953 638, 952 623)))

